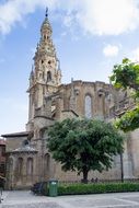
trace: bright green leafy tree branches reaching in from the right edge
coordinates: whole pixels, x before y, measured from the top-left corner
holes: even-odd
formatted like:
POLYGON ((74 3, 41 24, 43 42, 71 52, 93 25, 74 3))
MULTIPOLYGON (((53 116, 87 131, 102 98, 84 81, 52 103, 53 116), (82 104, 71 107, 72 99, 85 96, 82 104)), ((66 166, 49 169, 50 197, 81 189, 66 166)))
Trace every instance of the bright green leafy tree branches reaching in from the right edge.
POLYGON ((117 89, 130 90, 135 99, 134 109, 127 111, 117 122, 117 128, 129 131, 139 128, 139 62, 123 59, 120 65, 115 65, 111 76, 112 84, 117 89))

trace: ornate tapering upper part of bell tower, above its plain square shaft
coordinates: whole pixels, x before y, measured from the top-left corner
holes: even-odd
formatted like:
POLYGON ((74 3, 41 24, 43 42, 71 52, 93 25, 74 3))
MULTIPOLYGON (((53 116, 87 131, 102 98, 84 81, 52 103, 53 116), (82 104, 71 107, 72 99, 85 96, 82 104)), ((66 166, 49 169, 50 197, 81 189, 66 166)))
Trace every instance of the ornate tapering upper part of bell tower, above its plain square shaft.
POLYGON ((61 73, 59 69, 59 60, 56 49, 51 41, 53 30, 48 21, 48 9, 40 27, 40 39, 34 56, 34 67, 36 81, 51 86, 54 90, 61 82, 61 73))

